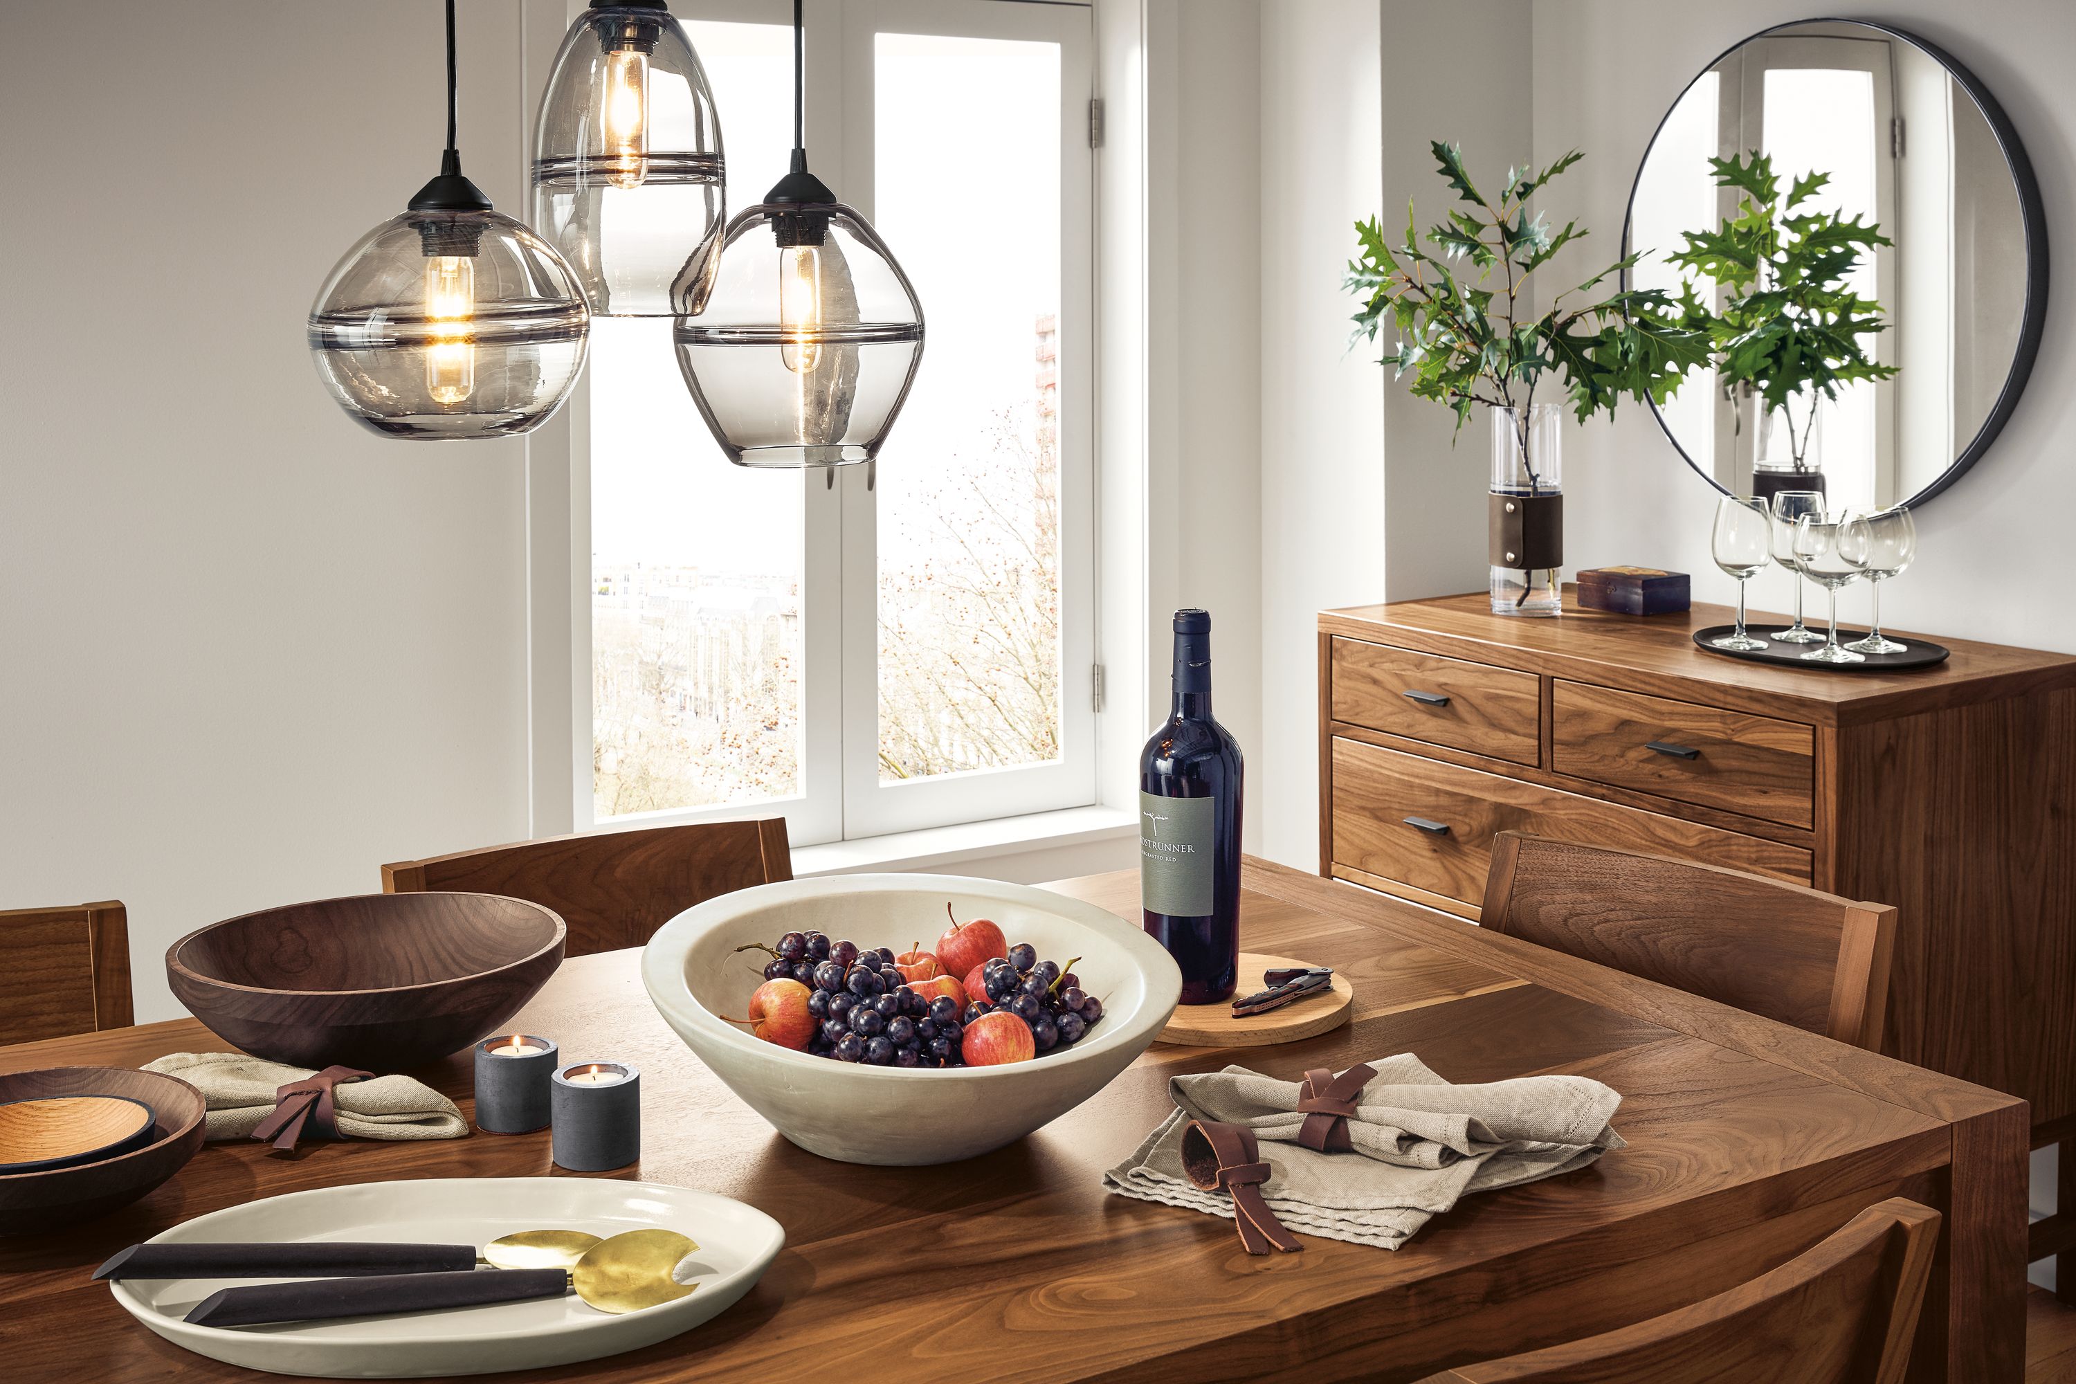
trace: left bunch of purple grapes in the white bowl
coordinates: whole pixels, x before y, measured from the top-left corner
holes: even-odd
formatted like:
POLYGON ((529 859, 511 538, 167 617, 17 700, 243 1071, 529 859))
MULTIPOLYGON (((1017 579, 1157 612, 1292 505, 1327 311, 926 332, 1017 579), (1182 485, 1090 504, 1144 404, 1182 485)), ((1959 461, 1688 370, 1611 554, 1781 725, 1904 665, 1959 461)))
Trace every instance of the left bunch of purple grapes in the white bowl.
POLYGON ((857 950, 820 932, 778 938, 764 979, 808 986, 808 1013, 822 1027, 808 1042, 814 1056, 872 1067, 959 1067, 959 1004, 951 996, 926 1000, 905 986, 893 948, 857 950))

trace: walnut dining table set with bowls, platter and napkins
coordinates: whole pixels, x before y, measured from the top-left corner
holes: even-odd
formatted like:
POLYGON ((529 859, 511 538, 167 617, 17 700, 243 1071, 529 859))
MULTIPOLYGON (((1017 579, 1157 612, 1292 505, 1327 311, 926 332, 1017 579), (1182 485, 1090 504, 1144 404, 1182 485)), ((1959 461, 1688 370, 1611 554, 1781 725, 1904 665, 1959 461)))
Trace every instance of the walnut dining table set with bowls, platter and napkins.
MULTIPOLYGON (((1262 861, 1248 863, 1244 884, 1246 946, 1347 975, 1345 1027, 1281 1048, 1156 1044, 1044 1129, 934 1168, 851 1166, 793 1147, 664 1027, 637 950, 565 963, 515 1027, 554 1035, 577 1060, 641 1067, 644 1158, 614 1177, 749 1201, 778 1218, 787 1247, 706 1326, 554 1378, 1420 1380, 1696 1301, 1800 1253, 1860 1208, 1908 1195, 1945 1212, 1910 1378, 2020 1380, 2024 1102, 1360 886, 1262 861), (1248 1257, 1231 1222, 1100 1187, 1171 1108, 1175 1073, 1246 1062, 1295 1079, 1395 1052, 1451 1081, 1605 1081, 1623 1096, 1615 1129, 1628 1147, 1468 1197, 1395 1253, 1306 1239, 1302 1253, 1248 1257)), ((1136 874, 1053 888, 1138 917, 1136 874)), ((222 1046, 181 1019, 0 1048, 0 1071, 135 1067, 222 1046)), ((469 1112, 467 1054, 421 1075, 469 1112)), ((295 1158, 206 1145, 125 1212, 0 1239, 0 1376, 264 1378, 145 1332, 89 1272, 122 1245, 253 1197, 550 1174, 573 1177, 552 1168, 546 1133, 322 1143, 295 1158)))

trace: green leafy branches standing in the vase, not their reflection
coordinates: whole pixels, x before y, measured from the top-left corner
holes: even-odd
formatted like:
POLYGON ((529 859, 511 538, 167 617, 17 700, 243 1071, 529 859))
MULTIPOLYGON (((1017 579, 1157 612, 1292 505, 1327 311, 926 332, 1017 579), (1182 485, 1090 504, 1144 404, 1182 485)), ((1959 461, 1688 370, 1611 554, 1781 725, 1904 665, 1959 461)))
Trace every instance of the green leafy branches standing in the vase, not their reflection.
POLYGON ((1364 305, 1354 338, 1376 340, 1389 317, 1399 344, 1378 363, 1393 365, 1395 378, 1412 371, 1412 394, 1453 409, 1457 434, 1474 405, 1513 409, 1522 469, 1536 494, 1528 407, 1542 376, 1555 371, 1580 421, 1603 411, 1613 415, 1621 398, 1665 403, 1690 367, 1706 363, 1709 336, 1688 326, 1682 305, 1659 288, 1626 288, 1596 303, 1565 305, 1569 295, 1588 293, 1634 266, 1638 255, 1559 290, 1540 315, 1524 315, 1528 278, 1567 243, 1586 237, 1576 220, 1551 230, 1540 212, 1528 214, 1528 199, 1582 156, 1574 149, 1542 172, 1509 168, 1505 191, 1493 203, 1472 185, 1459 145, 1437 139, 1432 149, 1441 176, 1472 210, 1451 210, 1428 230, 1439 255, 1420 247, 1412 201, 1399 245, 1385 243, 1376 218, 1356 222, 1360 255, 1347 266, 1345 286, 1362 295, 1364 305), (1478 270, 1474 282, 1449 268, 1466 259, 1478 270), (1484 286, 1495 266, 1505 272, 1503 297, 1484 286))

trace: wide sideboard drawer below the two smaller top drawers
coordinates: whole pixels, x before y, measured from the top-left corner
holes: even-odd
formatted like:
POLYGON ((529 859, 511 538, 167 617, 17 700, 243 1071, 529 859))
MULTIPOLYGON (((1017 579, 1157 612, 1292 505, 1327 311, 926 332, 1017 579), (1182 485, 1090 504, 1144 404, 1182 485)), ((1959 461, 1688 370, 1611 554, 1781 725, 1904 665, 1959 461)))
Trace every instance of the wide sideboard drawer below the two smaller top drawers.
POLYGON ((1497 832, 1652 851, 1810 882, 1810 853, 1499 774, 1333 741, 1333 863, 1459 903, 1484 901, 1497 832))

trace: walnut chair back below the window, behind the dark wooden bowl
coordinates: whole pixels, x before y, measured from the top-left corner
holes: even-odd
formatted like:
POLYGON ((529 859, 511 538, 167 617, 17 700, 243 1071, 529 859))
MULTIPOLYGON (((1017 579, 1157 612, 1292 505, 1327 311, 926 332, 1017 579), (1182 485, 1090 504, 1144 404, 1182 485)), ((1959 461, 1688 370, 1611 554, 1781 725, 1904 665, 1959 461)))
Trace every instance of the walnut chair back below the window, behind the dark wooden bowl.
POLYGON ((569 957, 644 946, 695 903, 793 878, 785 818, 579 832, 401 861, 382 892, 509 894, 554 909, 569 957))

